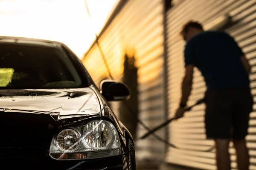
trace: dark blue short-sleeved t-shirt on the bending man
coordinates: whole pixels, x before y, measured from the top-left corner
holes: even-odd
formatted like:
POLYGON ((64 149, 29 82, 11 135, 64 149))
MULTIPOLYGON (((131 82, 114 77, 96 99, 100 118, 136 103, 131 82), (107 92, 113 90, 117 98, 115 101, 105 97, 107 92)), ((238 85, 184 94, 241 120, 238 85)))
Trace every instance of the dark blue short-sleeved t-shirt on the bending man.
POLYGON ((244 55, 230 35, 221 31, 204 31, 185 46, 185 65, 195 65, 204 76, 207 88, 249 87, 250 80, 241 63, 244 55))

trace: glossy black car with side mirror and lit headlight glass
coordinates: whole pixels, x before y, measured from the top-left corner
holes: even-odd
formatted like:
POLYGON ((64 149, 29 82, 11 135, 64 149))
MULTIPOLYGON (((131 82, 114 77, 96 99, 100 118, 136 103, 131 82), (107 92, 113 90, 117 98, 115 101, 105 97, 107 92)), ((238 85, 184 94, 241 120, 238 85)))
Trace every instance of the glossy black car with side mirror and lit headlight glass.
POLYGON ((0 37, 0 169, 135 170, 132 136, 107 104, 129 96, 121 82, 98 89, 61 42, 0 37))

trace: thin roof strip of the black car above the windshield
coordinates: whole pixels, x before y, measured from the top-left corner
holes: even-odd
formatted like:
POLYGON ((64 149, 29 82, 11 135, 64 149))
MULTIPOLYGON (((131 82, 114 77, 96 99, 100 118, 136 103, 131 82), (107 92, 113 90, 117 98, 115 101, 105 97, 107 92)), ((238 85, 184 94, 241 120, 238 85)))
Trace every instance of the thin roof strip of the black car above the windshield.
POLYGON ((43 46, 56 46, 57 44, 62 44, 61 42, 51 41, 51 40, 42 40, 36 38, 26 38, 26 37, 6 37, 0 36, 0 42, 9 42, 9 43, 20 43, 20 44, 33 44, 33 45, 43 45, 43 46))

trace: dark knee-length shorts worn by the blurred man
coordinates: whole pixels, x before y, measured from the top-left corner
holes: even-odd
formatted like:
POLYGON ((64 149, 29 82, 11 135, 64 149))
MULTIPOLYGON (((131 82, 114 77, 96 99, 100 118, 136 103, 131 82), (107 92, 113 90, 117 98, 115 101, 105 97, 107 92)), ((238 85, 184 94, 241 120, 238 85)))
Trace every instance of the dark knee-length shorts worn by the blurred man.
POLYGON ((250 88, 207 90, 205 103, 207 139, 244 139, 253 109, 250 88))

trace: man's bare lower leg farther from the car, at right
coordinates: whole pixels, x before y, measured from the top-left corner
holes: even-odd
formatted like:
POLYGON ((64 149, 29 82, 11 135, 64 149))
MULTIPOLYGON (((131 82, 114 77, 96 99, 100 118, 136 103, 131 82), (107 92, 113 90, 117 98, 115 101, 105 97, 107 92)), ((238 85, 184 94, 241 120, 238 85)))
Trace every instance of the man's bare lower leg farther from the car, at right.
POLYGON ((233 140, 236 149, 236 162, 239 170, 249 170, 249 153, 245 139, 233 140))

